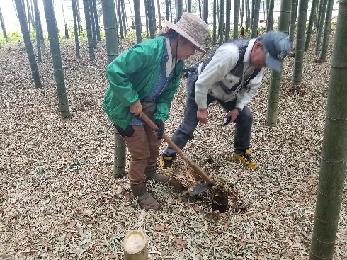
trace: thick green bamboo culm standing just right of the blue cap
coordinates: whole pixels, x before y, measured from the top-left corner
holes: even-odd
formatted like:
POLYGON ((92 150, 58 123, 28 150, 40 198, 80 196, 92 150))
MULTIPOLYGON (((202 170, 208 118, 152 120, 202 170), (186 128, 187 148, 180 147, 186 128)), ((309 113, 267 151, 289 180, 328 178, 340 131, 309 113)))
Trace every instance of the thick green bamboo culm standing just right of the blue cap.
POLYGON ((304 63, 304 48, 306 39, 306 21, 307 21, 308 0, 299 1, 299 16, 297 17, 297 35, 295 45, 294 72, 292 75, 292 84, 299 84, 302 81, 302 70, 304 63))

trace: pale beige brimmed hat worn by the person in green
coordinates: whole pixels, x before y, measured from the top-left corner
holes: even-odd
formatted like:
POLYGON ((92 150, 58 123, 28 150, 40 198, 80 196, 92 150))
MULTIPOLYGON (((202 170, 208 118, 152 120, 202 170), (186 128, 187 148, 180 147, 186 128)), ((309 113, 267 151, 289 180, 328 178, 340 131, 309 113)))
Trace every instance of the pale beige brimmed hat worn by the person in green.
POLYGON ((206 52, 203 45, 208 35, 208 27, 198 16, 193 13, 183 13, 176 24, 166 21, 166 26, 193 43, 200 52, 206 52))

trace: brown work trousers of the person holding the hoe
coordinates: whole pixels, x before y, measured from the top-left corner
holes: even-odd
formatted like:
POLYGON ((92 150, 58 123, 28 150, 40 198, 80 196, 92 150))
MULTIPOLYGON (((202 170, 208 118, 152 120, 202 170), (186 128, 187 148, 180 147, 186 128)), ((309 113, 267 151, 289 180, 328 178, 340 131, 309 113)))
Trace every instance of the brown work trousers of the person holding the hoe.
POLYGON ((147 124, 132 125, 132 128, 132 136, 122 136, 130 153, 127 176, 131 184, 140 184, 146 179, 144 169, 157 164, 161 140, 147 124))

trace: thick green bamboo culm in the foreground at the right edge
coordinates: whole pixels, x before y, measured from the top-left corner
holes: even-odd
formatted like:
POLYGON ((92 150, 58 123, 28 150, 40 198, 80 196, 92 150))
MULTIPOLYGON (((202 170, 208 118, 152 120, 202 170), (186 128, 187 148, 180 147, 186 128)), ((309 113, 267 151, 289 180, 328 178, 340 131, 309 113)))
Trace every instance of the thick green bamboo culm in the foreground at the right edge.
POLYGON ((309 260, 334 259, 347 166, 347 0, 339 0, 309 260))

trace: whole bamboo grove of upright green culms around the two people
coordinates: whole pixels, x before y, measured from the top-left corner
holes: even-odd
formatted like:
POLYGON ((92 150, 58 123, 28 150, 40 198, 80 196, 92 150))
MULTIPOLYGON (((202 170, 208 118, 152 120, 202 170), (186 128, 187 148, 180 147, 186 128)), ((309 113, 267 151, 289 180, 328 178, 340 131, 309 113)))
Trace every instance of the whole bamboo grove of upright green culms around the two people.
MULTIPOLYGON (((118 43, 127 37, 130 31, 135 31, 137 43, 146 38, 154 38, 159 30, 163 29, 165 20, 175 23, 185 11, 196 13, 210 26, 210 43, 212 45, 222 45, 230 38, 256 38, 267 30, 281 30, 288 34, 292 42, 292 52, 295 53, 292 69, 292 84, 295 85, 302 83, 302 74, 305 73, 303 60, 310 43, 314 43, 317 62, 326 60, 333 6, 334 0, 13 1, 33 75, 33 86, 44 87, 40 80, 38 62, 45 60, 45 55, 49 53, 52 55, 59 111, 62 118, 69 118, 71 114, 66 91, 69 86, 65 86, 64 83, 59 48, 59 35, 61 34, 58 31, 55 12, 60 12, 63 16, 64 36, 60 37, 74 38, 76 59, 79 59, 81 55, 89 55, 89 60, 95 60, 98 42, 105 40, 108 63, 118 56, 118 43), (280 4, 280 14, 278 21, 274 21, 274 6, 278 3, 280 4), (40 13, 40 4, 44 6, 43 14, 40 13), (307 16, 308 11, 309 16, 307 16), (72 13, 72 21, 66 19, 68 12, 72 13), (103 21, 102 26, 99 23, 101 20, 103 21), (263 25, 259 25, 259 22, 263 25), (47 52, 45 47, 45 32, 42 30, 42 23, 47 25, 50 52, 47 52), (71 33, 69 35, 69 28, 73 28, 73 35, 71 33), (31 30, 35 30, 35 40, 33 41, 30 39, 31 30), (86 33, 88 54, 80 52, 81 42, 79 40, 83 33, 86 33)), ((6 13, 2 13, 0 9, 2 35, 8 42, 10 39, 6 32, 4 16, 6 13)), ((310 260, 332 259, 334 254, 347 159, 346 21, 347 0, 339 0, 310 260), (331 154, 335 154, 336 157, 331 157, 331 154)), ((282 72, 271 72, 266 111, 266 125, 268 126, 276 126, 277 123, 281 76, 282 72)), ((125 143, 115 131, 114 176, 118 178, 124 175, 125 143)))

